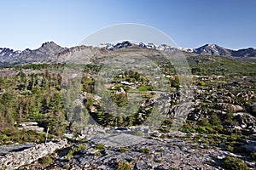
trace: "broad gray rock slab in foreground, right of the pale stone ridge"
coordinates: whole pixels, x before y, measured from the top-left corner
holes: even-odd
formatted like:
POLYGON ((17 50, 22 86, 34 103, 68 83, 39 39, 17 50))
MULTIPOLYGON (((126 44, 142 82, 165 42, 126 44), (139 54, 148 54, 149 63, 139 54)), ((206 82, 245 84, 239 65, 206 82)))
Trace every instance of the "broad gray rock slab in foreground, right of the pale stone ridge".
MULTIPOLYGON (((216 169, 207 163, 216 166, 218 163, 213 158, 223 156, 220 150, 204 150, 197 147, 197 144, 189 144, 180 139, 155 140, 117 133, 97 134, 89 141, 85 150, 73 156, 70 169, 116 169, 119 161, 127 161, 133 169, 142 170, 172 167, 216 169), (105 145, 106 149, 96 150, 95 145, 99 143, 105 145), (125 148, 125 151, 120 148, 125 148)), ((58 164, 55 162, 55 165, 58 164)))

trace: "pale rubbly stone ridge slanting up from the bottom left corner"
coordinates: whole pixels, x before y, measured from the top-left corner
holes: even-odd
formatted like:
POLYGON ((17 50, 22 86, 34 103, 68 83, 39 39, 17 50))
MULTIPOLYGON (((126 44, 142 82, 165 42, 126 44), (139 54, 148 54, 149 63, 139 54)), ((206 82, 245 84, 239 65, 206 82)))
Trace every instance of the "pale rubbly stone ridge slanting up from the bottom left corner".
POLYGON ((17 169, 21 166, 31 164, 38 161, 39 158, 52 154, 55 150, 60 150, 67 145, 66 140, 57 143, 48 142, 46 144, 36 144, 34 147, 10 152, 4 156, 0 156, 1 169, 17 169))

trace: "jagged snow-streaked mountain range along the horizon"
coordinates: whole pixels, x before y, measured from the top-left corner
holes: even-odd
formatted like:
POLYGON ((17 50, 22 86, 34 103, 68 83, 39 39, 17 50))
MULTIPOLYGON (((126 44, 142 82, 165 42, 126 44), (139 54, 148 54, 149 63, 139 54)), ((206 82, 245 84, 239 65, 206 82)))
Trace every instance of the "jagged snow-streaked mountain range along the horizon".
MULTIPOLYGON (((128 41, 119 42, 117 44, 102 43, 99 47, 91 46, 76 46, 73 48, 62 48, 55 42, 44 42, 38 49, 31 50, 26 48, 23 51, 15 51, 10 48, 0 48, 0 66, 6 65, 25 65, 25 64, 40 64, 40 63, 53 63, 65 62, 67 58, 73 57, 78 60, 83 57, 82 60, 87 61, 88 56, 94 56, 94 58, 101 58, 102 55, 112 53, 113 51, 124 50, 124 48, 135 47, 134 50, 140 48, 144 52, 148 49, 156 51, 161 50, 180 50, 189 54, 203 54, 203 55, 218 55, 218 56, 230 56, 236 58, 256 58, 255 48, 244 49, 228 49, 220 47, 216 44, 206 44, 200 48, 173 48, 166 44, 154 45, 154 43, 145 44, 143 42, 131 43, 128 41), (87 56, 87 57, 86 57, 87 56)), ((153 51, 148 51, 153 53, 153 51)))

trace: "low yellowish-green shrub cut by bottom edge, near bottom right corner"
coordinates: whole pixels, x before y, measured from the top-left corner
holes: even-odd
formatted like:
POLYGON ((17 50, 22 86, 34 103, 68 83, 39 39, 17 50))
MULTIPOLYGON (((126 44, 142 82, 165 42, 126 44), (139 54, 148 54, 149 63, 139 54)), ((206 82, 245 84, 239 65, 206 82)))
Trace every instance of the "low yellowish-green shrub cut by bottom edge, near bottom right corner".
POLYGON ((226 156, 224 158, 223 167, 227 170, 248 170, 247 164, 241 159, 234 156, 226 156))

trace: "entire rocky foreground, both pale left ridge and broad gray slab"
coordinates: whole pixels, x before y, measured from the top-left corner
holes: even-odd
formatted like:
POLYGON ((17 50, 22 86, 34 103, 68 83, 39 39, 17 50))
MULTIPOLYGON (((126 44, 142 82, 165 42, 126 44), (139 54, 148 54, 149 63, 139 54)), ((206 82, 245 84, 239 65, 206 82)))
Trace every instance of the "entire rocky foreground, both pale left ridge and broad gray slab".
MULTIPOLYGON (((118 169, 128 162, 131 169, 223 169, 222 159, 230 152, 178 138, 144 138, 127 133, 98 133, 85 142, 67 141, 46 144, 2 146, 1 169, 118 169), (75 150, 70 155, 70 150, 75 150), (44 156, 55 157, 46 165, 38 163, 44 156)), ((250 162, 247 162, 250 163, 250 162)), ((251 163, 251 166, 255 166, 251 163)))

